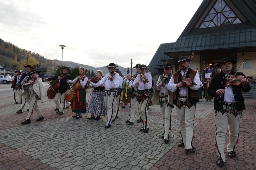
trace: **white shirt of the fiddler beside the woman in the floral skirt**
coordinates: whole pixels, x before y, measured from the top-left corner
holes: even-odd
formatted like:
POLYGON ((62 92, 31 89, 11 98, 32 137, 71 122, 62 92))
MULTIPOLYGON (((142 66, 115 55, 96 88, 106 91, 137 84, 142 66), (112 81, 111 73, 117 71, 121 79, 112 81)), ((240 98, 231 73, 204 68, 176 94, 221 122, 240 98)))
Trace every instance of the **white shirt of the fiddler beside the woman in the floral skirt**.
POLYGON ((100 84, 103 84, 103 86, 105 86, 105 89, 106 89, 106 90, 118 88, 118 87, 119 87, 119 84, 120 84, 120 79, 119 79, 120 75, 117 74, 117 73, 115 73, 115 75, 114 75, 114 77, 113 77, 113 78, 114 78, 113 81, 110 81, 110 80, 109 80, 109 74, 110 74, 110 73, 106 74, 106 75, 99 81, 99 83, 100 83, 100 84))

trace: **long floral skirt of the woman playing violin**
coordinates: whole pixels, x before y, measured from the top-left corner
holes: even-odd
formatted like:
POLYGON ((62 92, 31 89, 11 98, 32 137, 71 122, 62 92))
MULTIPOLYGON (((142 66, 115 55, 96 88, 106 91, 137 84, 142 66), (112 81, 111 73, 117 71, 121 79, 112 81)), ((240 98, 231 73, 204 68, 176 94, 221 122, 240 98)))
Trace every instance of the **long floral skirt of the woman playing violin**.
POLYGON ((91 113, 97 116, 106 116, 107 115, 107 109, 105 107, 104 103, 104 91, 91 91, 87 108, 87 113, 91 113))

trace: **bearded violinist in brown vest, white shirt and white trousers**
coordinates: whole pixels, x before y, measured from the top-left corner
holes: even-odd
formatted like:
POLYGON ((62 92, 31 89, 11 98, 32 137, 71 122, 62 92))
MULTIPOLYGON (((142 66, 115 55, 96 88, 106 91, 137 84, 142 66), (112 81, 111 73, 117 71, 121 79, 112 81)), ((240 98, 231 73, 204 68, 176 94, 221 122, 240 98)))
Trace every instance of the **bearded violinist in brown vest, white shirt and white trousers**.
POLYGON ((178 147, 184 147, 185 151, 195 153, 192 145, 194 133, 194 119, 196 103, 199 102, 197 90, 200 88, 200 78, 197 71, 189 68, 190 58, 181 56, 179 66, 181 69, 175 72, 169 82, 168 90, 173 92, 173 104, 176 105, 179 118, 181 140, 178 147))

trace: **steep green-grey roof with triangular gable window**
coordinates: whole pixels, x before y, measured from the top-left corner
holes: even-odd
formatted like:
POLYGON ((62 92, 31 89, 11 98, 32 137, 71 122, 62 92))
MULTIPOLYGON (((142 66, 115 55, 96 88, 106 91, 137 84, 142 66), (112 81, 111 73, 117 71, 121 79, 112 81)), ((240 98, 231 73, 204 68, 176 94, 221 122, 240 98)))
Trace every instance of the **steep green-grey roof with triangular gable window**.
POLYGON ((165 54, 177 58, 174 53, 239 48, 255 51, 255 11, 256 0, 204 0, 165 54))

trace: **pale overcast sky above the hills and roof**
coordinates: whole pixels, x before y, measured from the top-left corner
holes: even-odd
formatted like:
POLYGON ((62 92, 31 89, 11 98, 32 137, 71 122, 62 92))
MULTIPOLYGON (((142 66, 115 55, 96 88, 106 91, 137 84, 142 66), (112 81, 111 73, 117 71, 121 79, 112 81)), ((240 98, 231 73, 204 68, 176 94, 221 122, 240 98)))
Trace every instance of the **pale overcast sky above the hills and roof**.
POLYGON ((147 65, 175 42, 203 0, 1 0, 0 38, 45 58, 147 65))

